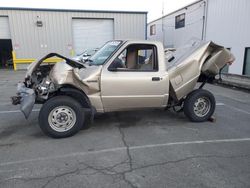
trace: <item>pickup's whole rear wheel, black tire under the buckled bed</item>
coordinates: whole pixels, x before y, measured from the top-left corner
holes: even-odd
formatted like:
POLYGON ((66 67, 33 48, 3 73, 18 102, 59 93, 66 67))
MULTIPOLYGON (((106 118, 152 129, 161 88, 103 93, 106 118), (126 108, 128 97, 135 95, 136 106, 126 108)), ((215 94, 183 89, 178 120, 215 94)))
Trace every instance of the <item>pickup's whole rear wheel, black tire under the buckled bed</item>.
POLYGON ((193 122, 207 121, 214 113, 216 101, 212 93, 196 89, 184 101, 184 114, 193 122))

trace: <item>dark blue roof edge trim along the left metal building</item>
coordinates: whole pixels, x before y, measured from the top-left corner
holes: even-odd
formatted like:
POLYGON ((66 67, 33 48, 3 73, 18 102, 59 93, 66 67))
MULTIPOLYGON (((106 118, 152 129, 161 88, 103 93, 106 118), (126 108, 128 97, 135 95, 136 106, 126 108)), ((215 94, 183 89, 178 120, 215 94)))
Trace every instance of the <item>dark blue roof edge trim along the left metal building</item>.
POLYGON ((82 10, 82 9, 54 9, 54 8, 26 8, 26 7, 0 7, 0 10, 27 10, 27 11, 52 11, 52 12, 98 12, 98 13, 123 13, 123 14, 148 14, 147 11, 119 11, 119 10, 82 10))

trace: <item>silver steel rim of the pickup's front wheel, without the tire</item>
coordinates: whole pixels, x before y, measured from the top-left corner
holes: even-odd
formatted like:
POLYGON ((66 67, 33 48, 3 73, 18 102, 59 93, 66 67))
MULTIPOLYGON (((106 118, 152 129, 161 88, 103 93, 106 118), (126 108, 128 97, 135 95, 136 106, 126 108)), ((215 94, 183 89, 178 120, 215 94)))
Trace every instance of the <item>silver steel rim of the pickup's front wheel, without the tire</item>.
POLYGON ((48 122, 53 130, 65 132, 75 125, 76 113, 68 106, 58 106, 49 113, 48 122))

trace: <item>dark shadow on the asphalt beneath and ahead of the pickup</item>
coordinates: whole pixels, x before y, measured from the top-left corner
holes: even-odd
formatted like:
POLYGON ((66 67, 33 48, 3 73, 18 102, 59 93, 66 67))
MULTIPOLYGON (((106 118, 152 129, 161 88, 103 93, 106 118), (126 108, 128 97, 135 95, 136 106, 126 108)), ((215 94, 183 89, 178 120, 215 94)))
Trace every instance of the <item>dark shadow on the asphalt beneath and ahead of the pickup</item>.
MULTIPOLYGON (((25 120, 22 116, 16 117, 15 121, 10 122, 10 126, 0 130, 0 140, 15 136, 16 134, 27 135, 27 132, 31 137, 46 138, 38 126, 37 118, 38 113, 33 113, 28 120, 25 120)), ((183 113, 153 109, 96 114, 93 123, 86 122, 86 124, 87 127, 94 129, 109 129, 113 127, 129 128, 136 126, 169 127, 183 125, 188 122, 183 113)))

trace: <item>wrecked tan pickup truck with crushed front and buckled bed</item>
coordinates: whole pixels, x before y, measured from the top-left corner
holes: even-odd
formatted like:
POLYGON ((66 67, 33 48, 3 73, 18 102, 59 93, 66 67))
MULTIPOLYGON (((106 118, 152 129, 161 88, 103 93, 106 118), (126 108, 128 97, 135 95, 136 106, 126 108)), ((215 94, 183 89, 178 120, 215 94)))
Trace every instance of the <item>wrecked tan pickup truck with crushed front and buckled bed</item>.
POLYGON ((32 63, 12 102, 26 118, 35 103, 43 104, 39 126, 54 138, 74 135, 96 112, 180 106, 188 119, 203 122, 213 115, 215 98, 202 87, 233 61, 213 42, 192 41, 166 55, 160 42, 109 41, 85 63, 56 53, 32 63), (42 63, 53 56, 62 62, 42 63))

